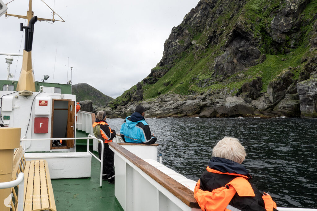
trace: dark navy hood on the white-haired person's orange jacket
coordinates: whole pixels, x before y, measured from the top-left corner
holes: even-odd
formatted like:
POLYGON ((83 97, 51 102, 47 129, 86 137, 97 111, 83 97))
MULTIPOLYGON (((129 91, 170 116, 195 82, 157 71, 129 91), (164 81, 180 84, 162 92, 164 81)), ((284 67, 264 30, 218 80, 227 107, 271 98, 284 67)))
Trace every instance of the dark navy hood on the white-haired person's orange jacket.
POLYGON ((225 158, 218 158, 218 157, 212 157, 211 160, 208 163, 209 168, 221 171, 223 173, 235 173, 235 174, 242 174, 244 176, 249 177, 251 179, 248 170, 239 163, 236 163, 232 160, 228 160, 225 158))

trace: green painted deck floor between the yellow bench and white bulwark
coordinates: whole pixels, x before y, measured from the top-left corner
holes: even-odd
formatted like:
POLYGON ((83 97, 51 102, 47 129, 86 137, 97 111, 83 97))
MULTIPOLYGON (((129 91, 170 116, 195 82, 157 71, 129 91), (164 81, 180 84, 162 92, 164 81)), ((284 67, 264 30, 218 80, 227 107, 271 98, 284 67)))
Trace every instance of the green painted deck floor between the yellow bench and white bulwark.
POLYGON ((100 163, 94 157, 91 163, 90 178, 51 180, 57 211, 121 210, 115 202, 114 184, 103 181, 100 188, 100 163))

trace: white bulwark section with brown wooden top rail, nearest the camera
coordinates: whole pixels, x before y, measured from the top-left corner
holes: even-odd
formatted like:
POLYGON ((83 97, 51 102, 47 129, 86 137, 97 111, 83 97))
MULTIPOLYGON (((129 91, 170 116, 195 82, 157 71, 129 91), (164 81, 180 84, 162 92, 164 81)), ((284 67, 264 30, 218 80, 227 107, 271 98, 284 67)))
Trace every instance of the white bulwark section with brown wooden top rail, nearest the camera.
POLYGON ((109 143, 116 167, 114 194, 123 210, 201 210, 192 190, 125 149, 125 144, 109 143))

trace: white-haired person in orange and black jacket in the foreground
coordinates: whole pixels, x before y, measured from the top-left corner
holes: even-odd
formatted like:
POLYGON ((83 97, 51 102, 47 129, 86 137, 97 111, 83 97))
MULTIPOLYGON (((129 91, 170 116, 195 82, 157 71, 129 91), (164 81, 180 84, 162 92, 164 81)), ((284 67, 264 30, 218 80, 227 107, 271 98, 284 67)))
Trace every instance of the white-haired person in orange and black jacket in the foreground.
POLYGON ((194 189, 200 208, 206 211, 276 211, 276 203, 259 191, 241 164, 246 156, 238 139, 225 137, 212 151, 207 170, 194 189))

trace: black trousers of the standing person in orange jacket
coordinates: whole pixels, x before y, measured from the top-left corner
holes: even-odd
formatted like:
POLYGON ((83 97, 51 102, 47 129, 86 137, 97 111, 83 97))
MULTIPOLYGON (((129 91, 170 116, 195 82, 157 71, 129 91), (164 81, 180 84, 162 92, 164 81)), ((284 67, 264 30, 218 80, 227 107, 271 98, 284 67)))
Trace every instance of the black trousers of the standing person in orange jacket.
MULTIPOLYGON (((99 159, 101 160, 101 143, 98 143, 98 153, 99 159)), ((112 178, 114 175, 113 158, 114 152, 109 148, 108 143, 104 143, 102 176, 107 176, 108 179, 112 178)))

